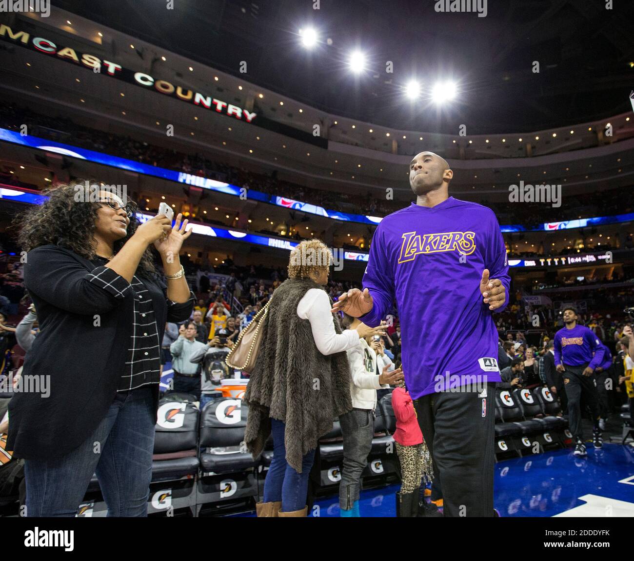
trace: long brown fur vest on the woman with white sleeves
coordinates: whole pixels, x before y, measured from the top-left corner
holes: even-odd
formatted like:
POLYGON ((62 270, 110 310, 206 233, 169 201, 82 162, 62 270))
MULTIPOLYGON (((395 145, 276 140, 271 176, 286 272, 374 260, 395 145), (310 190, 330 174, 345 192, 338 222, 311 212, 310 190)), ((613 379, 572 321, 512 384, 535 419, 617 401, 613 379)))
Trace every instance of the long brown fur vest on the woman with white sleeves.
MULTIPOLYGON (((245 429, 249 451, 259 455, 271 434, 271 418, 281 420, 286 423, 286 460, 298 473, 302 456, 332 430, 333 419, 353 407, 346 352, 321 354, 310 322, 297 316, 297 304, 310 288, 322 287, 311 280, 288 279, 273 292, 244 398, 249 405, 245 429)), ((333 323, 341 333, 334 314, 333 323)))

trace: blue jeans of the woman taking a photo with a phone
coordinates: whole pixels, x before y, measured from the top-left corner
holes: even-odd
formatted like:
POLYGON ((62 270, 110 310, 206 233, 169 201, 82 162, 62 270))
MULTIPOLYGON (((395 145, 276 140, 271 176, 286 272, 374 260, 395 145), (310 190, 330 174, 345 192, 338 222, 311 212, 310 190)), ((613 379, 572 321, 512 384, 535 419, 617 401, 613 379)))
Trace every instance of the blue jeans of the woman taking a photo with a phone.
POLYGON ((25 460, 27 516, 72 517, 93 474, 108 516, 148 513, 156 411, 152 386, 117 392, 94 433, 61 458, 25 460))

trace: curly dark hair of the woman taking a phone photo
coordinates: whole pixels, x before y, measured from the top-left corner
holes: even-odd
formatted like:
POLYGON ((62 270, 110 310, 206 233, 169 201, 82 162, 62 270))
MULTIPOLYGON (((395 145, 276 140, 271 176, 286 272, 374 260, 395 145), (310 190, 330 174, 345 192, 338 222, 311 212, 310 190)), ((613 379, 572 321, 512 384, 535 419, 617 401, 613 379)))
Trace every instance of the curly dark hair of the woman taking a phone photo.
MULTIPOLYGON (((91 186, 100 184, 98 181, 88 183, 91 186)), ((19 230, 18 243, 23 251, 29 252, 51 243, 68 248, 86 259, 94 259, 93 236, 100 203, 75 200, 77 186, 83 190, 84 184, 86 181, 83 179, 72 185, 55 184, 44 191, 48 199, 43 204, 29 207, 14 219, 14 226, 19 230)), ((126 237, 113 244, 115 254, 134 235, 139 223, 136 215, 130 218, 126 237)), ((137 272, 150 277, 157 273, 151 246, 141 256, 137 272)))

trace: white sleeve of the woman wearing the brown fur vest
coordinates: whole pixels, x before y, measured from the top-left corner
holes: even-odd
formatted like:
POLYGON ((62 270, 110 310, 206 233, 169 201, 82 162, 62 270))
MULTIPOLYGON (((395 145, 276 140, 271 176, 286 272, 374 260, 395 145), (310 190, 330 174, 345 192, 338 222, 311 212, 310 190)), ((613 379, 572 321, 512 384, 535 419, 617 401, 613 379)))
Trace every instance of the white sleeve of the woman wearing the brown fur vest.
POLYGON ((317 349, 321 354, 335 354, 356 347, 359 344, 359 333, 354 329, 346 329, 337 334, 332 322, 330 299, 325 290, 309 288, 297 304, 297 315, 311 323, 311 331, 317 349))

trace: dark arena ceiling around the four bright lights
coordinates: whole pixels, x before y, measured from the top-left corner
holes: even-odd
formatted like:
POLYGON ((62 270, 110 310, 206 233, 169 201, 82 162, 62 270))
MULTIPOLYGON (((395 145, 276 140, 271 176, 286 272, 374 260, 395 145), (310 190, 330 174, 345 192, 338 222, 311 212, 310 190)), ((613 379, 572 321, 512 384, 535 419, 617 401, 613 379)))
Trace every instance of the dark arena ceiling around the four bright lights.
POLYGON ((118 0, 116 9, 104 0, 53 4, 322 111, 383 126, 523 132, 631 110, 634 3, 608 10, 602 0, 492 0, 486 17, 437 13, 434 0, 320 0, 319 10, 314 0, 174 0, 173 10, 157 0, 118 0), (310 50, 299 40, 307 26, 319 35, 310 50), (347 65, 354 49, 367 58, 358 75, 347 65), (441 108, 425 95, 412 102, 403 94, 410 79, 424 93, 453 80, 458 97, 441 108))

